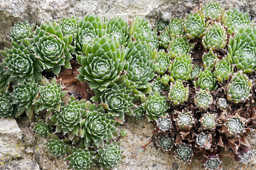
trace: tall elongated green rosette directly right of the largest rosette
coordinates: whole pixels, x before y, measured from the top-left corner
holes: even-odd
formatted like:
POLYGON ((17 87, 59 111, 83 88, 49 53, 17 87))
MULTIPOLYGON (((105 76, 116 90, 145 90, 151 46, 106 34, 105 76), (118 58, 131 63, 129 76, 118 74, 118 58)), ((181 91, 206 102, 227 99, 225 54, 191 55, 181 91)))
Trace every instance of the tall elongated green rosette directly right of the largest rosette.
POLYGON ((127 45, 126 80, 135 94, 148 94, 151 92, 150 81, 155 76, 156 65, 154 65, 155 53, 148 44, 144 42, 130 41, 127 45))

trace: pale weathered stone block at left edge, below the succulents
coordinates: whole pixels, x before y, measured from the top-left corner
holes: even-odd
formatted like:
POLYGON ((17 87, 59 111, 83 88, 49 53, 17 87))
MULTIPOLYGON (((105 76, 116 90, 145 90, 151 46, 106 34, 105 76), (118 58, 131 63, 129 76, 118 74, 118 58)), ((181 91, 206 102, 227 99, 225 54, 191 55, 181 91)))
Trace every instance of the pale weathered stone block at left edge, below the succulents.
POLYGON ((23 158, 22 131, 15 120, 0 119, 0 161, 23 158))

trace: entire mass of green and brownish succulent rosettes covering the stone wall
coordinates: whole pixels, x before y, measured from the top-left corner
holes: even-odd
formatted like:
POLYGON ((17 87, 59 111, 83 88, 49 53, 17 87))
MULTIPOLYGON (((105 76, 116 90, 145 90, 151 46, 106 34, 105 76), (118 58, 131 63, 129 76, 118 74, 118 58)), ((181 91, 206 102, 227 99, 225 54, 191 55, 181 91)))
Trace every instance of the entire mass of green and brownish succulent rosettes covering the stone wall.
POLYGON ((207 169, 220 169, 225 156, 247 163, 256 128, 253 22, 209 2, 155 23, 86 15, 16 24, 1 52, 0 116, 27 115, 73 169, 118 166, 126 132, 117 126, 129 116, 153 122, 152 141, 176 159, 201 156, 207 169))

